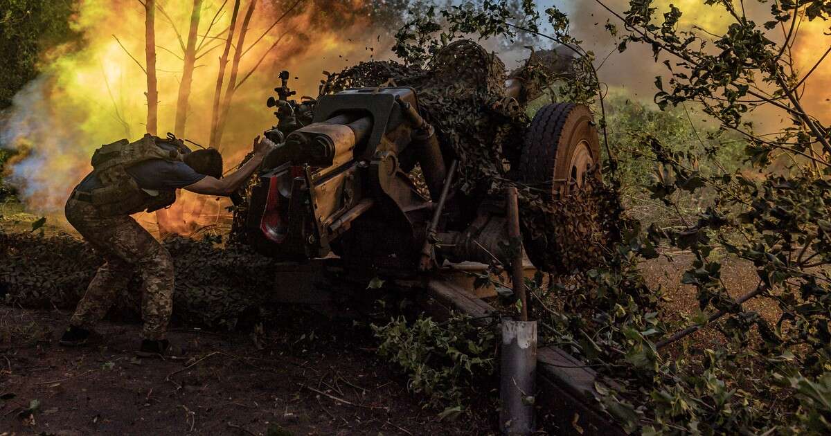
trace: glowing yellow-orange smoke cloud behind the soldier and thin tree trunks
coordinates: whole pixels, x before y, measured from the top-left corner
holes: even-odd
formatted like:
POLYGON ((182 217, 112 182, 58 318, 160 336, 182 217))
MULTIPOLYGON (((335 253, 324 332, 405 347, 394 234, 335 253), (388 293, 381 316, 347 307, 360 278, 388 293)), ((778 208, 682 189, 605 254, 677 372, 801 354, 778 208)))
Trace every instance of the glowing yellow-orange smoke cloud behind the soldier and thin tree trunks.
MULTIPOLYGON (((182 74, 179 37, 187 38, 193 2, 158 3, 165 11, 155 14, 158 132, 164 136, 174 130, 182 74)), ((245 42, 250 50, 240 61, 238 81, 249 71, 253 73, 234 94, 222 140, 228 164, 236 164, 250 149, 253 138, 275 124, 265 100, 279 85, 279 71, 288 70, 299 77, 291 83, 297 97, 317 96, 322 71, 337 71, 366 60, 390 45, 389 31, 376 24, 381 18, 391 19, 396 11, 383 15, 384 11, 353 0, 305 2, 305 7, 297 7, 266 33, 293 3, 257 1, 245 42), (282 39, 273 46, 278 38, 282 39)), ((204 2, 199 23, 199 35, 204 39, 198 40, 204 45, 196 61, 187 112, 185 137, 203 145, 209 141, 224 43, 216 38, 224 37, 223 31, 229 27, 234 1, 226 2, 217 14, 222 4, 204 2)), ((243 1, 238 27, 247 7, 248 2, 243 1)), ((44 53, 42 74, 17 93, 12 107, 0 117, 0 145, 20 152, 7 165, 8 177, 27 207, 39 213, 62 210, 71 189, 91 169, 94 149, 120 138, 138 139, 146 131, 144 7, 130 0, 82 0, 71 17, 71 26, 82 35, 81 47, 57 47, 44 53)), ((230 68, 229 63, 226 81, 230 68)))

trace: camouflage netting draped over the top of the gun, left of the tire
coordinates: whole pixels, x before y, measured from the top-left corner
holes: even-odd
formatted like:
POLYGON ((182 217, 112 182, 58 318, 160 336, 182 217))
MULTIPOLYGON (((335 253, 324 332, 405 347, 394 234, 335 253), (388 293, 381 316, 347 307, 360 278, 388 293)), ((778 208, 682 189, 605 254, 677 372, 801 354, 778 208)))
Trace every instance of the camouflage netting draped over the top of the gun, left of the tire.
POLYGON ((426 70, 395 61, 361 62, 328 76, 322 94, 364 86, 414 88, 422 115, 436 128, 441 144, 459 159, 457 179, 470 194, 504 179, 503 159, 518 154, 522 146, 529 120, 519 111, 500 110, 505 78, 499 57, 475 42, 460 40, 440 51, 426 70))

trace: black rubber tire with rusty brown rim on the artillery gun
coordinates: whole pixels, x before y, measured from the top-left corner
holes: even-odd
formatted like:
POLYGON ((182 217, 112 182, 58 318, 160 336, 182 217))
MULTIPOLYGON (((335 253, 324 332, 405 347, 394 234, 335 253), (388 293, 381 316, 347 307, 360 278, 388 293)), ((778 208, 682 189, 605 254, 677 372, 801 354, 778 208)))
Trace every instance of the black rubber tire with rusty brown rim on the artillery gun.
POLYGON ((550 183, 552 195, 565 194, 574 184, 583 184, 584 164, 588 161, 592 165, 600 161, 600 140, 588 107, 555 103, 538 110, 525 134, 519 159, 522 181, 546 186, 550 183), (574 158, 579 161, 574 162, 574 158))

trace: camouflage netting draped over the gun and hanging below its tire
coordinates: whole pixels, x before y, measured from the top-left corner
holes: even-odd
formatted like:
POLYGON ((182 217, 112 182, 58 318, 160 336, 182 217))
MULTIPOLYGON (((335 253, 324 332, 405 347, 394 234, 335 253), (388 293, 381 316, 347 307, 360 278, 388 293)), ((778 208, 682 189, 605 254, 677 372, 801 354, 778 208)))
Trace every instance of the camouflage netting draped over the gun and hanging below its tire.
MULTIPOLYGON (((538 96, 550 75, 566 68, 543 66, 550 58, 532 56, 511 76, 538 96)), ((622 208, 617 194, 596 182, 578 194, 552 199, 510 179, 509 163, 519 160, 530 120, 504 95, 505 79, 499 57, 475 42, 460 40, 439 51, 426 69, 395 61, 361 62, 328 75, 321 93, 363 86, 413 87, 422 115, 460 161, 456 183, 465 194, 499 194, 508 184, 519 189, 523 231, 534 239, 526 245, 544 259, 538 267, 568 273, 597 265, 618 233, 622 208)))

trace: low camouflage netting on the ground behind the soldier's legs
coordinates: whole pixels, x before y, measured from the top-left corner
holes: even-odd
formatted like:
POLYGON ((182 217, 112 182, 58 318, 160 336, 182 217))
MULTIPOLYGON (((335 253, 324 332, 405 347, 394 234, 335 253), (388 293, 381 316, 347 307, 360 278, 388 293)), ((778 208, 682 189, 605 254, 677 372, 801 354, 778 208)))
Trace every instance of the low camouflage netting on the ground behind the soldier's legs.
MULTIPOLYGON (((187 238, 168 238, 164 245, 175 262, 176 320, 233 326, 268 306, 274 287, 270 259, 248 247, 220 248, 187 238)), ((71 236, 0 233, 0 301, 74 309, 102 262, 86 242, 71 236)), ((136 275, 129 289, 120 291, 112 312, 138 316, 139 286, 136 275)))

